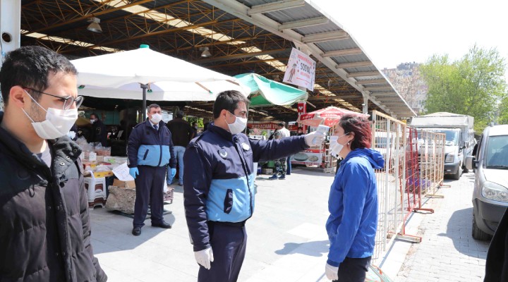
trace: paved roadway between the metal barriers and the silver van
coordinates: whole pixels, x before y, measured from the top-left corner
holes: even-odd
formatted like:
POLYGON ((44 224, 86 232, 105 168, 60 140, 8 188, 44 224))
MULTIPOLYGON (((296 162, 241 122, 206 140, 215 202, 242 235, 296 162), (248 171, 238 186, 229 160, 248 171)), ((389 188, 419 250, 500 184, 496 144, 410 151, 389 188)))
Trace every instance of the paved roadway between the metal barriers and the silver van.
POLYGON ((425 203, 435 212, 422 215, 418 228, 422 242, 411 245, 394 281, 483 281, 489 243, 471 237, 473 183, 473 173, 445 179, 450 188, 437 192, 444 198, 425 203))

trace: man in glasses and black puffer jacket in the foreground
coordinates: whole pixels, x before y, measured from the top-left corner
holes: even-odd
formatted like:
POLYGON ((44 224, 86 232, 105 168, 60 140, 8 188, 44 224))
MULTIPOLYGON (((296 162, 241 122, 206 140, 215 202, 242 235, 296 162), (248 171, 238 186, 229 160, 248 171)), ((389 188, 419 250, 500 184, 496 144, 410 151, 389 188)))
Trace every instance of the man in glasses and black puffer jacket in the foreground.
POLYGON ((66 134, 83 97, 68 59, 43 47, 0 70, 0 281, 107 281, 90 245, 81 150, 66 134))

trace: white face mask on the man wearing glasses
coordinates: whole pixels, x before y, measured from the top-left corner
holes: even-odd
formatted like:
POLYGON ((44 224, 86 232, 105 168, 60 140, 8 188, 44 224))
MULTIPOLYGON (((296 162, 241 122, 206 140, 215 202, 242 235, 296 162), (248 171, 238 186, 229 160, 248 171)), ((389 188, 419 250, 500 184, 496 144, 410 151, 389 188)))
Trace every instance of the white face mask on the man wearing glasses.
MULTIPOLYGON (((26 93, 28 94, 28 92, 26 93)), ((78 109, 59 110, 48 108, 46 110, 37 103, 30 94, 28 94, 28 96, 33 102, 35 102, 35 104, 37 104, 37 106, 40 106, 41 109, 46 111, 46 120, 36 122, 28 116, 25 109, 21 109, 23 110, 23 113, 30 118, 30 121, 32 121, 35 133, 37 133, 37 135, 39 135, 42 139, 52 140, 66 135, 78 119, 78 109)))

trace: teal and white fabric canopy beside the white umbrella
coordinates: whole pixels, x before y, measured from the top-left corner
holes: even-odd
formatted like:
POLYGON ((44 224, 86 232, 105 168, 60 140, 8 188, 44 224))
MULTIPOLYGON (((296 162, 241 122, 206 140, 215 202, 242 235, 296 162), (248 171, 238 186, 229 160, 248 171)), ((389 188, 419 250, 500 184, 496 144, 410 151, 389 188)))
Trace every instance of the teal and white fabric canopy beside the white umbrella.
POLYGON ((255 73, 235 75, 234 78, 250 88, 250 106, 290 106, 308 97, 306 90, 286 85, 281 82, 269 80, 255 73))

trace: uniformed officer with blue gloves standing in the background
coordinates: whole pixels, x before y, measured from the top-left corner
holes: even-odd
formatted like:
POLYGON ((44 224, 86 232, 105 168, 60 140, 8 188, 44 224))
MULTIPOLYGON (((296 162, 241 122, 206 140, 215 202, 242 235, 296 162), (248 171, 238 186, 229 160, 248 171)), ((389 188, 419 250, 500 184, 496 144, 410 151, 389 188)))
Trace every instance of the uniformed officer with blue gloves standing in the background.
POLYGON ((141 228, 150 203, 152 226, 171 228, 162 217, 166 180, 166 167, 176 173, 171 133, 162 121, 161 108, 157 104, 148 106, 148 118, 135 125, 128 140, 129 173, 135 179, 136 199, 134 204, 133 235, 141 234, 141 228))

